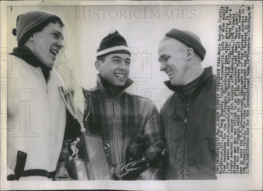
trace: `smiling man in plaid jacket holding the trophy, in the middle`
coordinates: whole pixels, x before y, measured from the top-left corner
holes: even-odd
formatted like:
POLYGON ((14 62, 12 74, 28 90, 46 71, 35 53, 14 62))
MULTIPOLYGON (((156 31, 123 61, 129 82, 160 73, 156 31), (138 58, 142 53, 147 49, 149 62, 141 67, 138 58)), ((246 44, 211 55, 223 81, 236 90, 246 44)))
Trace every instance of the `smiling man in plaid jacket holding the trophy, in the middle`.
MULTIPOLYGON (((126 40, 118 31, 102 39, 95 61, 95 67, 99 72, 97 86, 87 90, 91 98, 91 109, 84 126, 87 132, 103 138, 103 147, 111 169, 109 176, 103 177, 100 174, 97 179, 137 179, 140 172, 143 172, 143 168, 139 168, 137 173, 127 169, 124 172, 127 173, 125 175, 120 172, 125 170, 125 164, 131 162, 130 157, 137 159, 136 156, 142 156, 146 149, 148 150, 145 151, 144 156, 149 156, 148 162, 149 167, 152 166, 152 171, 147 171, 148 173, 139 177, 156 179, 154 174, 156 169, 153 168, 156 164, 153 161, 157 161, 165 146, 161 140, 158 140, 157 108, 149 99, 125 91, 133 83, 129 79, 131 53, 127 48, 126 40), (149 146, 151 146, 150 149, 149 146)), ((70 169, 66 168, 66 164, 70 156, 68 144, 78 136, 80 136, 80 125, 69 114, 54 180, 77 179, 74 173, 68 173, 70 169)), ((78 155, 81 156, 82 153, 78 152, 78 155)), ((146 167, 146 163, 143 165, 146 167)), ((135 167, 138 166, 133 168, 135 167)))

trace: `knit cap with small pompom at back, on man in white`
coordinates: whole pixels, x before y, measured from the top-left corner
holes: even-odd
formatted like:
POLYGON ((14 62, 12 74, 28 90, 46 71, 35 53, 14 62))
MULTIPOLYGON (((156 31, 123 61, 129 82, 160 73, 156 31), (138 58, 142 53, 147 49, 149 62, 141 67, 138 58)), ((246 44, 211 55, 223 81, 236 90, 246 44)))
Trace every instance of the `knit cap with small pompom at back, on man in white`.
POLYGON ((21 47, 29 37, 48 23, 60 20, 57 15, 52 15, 42 11, 31 11, 17 16, 16 27, 12 34, 17 36, 17 45, 21 47))

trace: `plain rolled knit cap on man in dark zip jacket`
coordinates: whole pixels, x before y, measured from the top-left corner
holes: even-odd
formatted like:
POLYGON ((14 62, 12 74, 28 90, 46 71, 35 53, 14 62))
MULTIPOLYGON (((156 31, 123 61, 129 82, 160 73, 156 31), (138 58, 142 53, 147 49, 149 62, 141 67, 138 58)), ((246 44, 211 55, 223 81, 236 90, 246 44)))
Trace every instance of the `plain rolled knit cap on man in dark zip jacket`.
POLYGON ((206 54, 205 48, 202 45, 199 36, 197 36, 193 32, 173 28, 169 32, 167 32, 165 36, 170 36, 183 42, 190 48, 194 49, 194 51, 200 56, 202 61, 204 60, 206 54))

